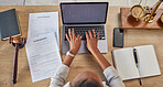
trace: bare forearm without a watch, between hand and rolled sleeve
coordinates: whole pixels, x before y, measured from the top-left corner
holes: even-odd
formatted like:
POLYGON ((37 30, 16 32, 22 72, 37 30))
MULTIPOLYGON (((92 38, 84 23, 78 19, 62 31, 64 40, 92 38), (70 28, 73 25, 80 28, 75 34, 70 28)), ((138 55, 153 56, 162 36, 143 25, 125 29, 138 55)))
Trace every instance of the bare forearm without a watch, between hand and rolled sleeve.
POLYGON ((96 61, 99 63, 101 68, 105 70, 107 67, 111 66, 111 64, 105 58, 105 56, 99 52, 98 48, 94 50, 91 54, 95 56, 96 61))

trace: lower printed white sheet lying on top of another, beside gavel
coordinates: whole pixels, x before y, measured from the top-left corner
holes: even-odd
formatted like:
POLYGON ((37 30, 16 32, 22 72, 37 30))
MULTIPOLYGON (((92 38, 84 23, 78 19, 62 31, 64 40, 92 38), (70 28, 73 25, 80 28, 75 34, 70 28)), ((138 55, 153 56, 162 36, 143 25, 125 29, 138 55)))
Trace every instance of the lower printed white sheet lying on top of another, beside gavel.
POLYGON ((52 77, 62 63, 54 33, 28 39, 25 48, 33 83, 52 77))

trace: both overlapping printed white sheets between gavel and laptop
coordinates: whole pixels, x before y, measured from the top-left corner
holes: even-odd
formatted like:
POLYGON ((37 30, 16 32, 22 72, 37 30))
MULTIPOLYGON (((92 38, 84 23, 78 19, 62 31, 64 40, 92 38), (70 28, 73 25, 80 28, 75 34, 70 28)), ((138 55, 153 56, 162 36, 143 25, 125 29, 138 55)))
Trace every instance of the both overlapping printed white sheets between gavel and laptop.
POLYGON ((30 13, 25 48, 33 83, 52 77, 62 63, 58 39, 58 12, 30 13))

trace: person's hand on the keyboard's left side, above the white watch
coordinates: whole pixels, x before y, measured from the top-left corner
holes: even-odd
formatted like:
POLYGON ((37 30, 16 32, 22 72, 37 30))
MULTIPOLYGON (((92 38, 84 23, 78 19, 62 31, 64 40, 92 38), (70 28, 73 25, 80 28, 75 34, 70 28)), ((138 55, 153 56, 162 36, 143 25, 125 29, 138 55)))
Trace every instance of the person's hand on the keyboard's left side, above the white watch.
POLYGON ((80 47, 82 36, 79 34, 75 36, 74 29, 73 29, 73 32, 70 32, 70 29, 68 29, 68 34, 66 34, 66 39, 69 42, 69 47, 70 47, 69 52, 76 55, 80 47), (68 34, 69 34, 69 37, 68 37, 68 34))

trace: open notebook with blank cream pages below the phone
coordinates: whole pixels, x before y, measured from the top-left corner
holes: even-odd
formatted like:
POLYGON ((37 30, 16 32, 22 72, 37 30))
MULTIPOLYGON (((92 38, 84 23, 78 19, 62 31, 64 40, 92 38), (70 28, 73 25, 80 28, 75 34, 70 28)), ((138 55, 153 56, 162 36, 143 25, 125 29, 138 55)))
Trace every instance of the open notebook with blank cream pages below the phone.
POLYGON ((153 45, 115 50, 112 56, 122 80, 161 75, 153 45), (133 50, 135 50, 137 56, 133 50))

